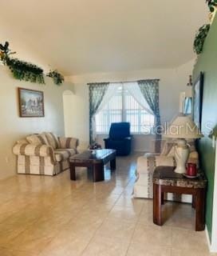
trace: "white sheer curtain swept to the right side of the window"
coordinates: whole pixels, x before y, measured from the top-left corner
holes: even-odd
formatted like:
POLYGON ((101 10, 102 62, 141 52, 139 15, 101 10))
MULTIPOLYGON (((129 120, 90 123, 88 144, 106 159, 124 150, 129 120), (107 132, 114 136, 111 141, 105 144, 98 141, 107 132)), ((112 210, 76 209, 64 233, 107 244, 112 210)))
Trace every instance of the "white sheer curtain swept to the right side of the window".
POLYGON ((135 98, 136 102, 138 102, 140 106, 144 108, 144 110, 146 110, 149 114, 154 114, 150 106, 148 106, 148 103, 146 102, 137 82, 124 82, 123 86, 124 89, 128 90, 128 93, 135 98))

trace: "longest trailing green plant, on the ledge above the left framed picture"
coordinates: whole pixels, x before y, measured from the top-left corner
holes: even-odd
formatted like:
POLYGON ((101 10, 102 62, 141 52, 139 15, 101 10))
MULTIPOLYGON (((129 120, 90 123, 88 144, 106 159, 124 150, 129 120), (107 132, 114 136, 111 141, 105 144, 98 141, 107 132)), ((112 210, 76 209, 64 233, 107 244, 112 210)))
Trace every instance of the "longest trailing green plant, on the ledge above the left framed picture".
POLYGON ((15 54, 9 49, 9 42, 5 45, 0 44, 0 56, 2 63, 8 66, 14 76, 19 80, 30 82, 45 83, 43 70, 29 62, 23 62, 18 58, 11 58, 10 55, 15 54))

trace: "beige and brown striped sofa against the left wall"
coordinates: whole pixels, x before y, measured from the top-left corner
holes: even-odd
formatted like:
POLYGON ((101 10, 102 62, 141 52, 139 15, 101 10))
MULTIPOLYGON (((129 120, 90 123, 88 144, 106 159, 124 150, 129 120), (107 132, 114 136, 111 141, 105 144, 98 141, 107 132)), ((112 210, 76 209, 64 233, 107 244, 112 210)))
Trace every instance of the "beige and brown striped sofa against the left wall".
POLYGON ((18 174, 56 175, 69 168, 69 157, 77 154, 78 139, 53 133, 32 134, 13 147, 18 174))

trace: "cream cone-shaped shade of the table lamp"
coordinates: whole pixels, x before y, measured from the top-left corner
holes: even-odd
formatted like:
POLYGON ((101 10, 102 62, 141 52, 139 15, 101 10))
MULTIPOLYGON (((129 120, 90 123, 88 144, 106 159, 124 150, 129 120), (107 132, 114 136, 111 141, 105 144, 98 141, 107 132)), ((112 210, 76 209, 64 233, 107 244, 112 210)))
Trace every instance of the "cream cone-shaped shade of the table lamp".
POLYGON ((195 122, 187 115, 176 117, 164 133, 165 138, 202 138, 199 128, 195 122))

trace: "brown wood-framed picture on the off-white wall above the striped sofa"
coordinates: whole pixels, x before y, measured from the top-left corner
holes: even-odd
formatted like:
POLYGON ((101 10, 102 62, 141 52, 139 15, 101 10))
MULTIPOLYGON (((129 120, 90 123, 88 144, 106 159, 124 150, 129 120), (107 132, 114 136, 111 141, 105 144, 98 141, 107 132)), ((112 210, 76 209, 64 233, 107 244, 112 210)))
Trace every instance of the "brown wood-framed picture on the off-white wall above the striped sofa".
POLYGON ((45 116, 44 93, 42 91, 18 88, 18 101, 21 118, 45 116))

